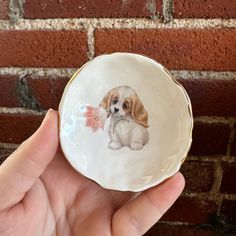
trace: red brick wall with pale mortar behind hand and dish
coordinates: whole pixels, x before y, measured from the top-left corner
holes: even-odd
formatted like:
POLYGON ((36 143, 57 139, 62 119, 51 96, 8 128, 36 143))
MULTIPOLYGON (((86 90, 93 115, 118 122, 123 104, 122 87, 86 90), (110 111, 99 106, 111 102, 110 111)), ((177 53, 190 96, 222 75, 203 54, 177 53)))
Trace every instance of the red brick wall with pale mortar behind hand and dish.
POLYGON ((0 0, 0 160, 57 109, 69 77, 114 51, 163 63, 193 105, 182 196, 146 235, 236 232, 236 3, 0 0))

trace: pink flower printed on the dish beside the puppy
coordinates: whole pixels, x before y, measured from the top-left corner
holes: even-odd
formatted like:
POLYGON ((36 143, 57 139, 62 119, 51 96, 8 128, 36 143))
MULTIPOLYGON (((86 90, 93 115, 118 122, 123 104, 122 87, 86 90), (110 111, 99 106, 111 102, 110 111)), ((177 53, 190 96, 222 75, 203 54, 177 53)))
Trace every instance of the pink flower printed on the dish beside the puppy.
POLYGON ((104 129, 106 119, 104 119, 102 110, 99 107, 86 106, 86 108, 86 127, 91 127, 93 132, 100 128, 104 129))

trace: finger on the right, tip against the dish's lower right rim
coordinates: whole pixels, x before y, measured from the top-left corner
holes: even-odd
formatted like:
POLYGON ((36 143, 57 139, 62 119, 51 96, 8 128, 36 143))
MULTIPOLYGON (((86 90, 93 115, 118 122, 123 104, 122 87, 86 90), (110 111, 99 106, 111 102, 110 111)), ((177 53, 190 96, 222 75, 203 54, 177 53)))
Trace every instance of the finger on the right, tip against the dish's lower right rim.
POLYGON ((184 177, 178 172, 127 202, 113 215, 112 235, 143 235, 175 202, 184 184, 184 177))

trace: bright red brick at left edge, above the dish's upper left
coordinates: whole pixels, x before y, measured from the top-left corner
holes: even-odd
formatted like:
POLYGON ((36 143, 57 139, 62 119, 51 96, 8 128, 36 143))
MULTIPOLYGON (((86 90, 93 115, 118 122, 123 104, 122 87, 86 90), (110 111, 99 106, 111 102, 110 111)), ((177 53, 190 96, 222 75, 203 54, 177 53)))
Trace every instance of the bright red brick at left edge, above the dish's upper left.
POLYGON ((80 67, 87 48, 84 31, 0 31, 0 66, 80 67))

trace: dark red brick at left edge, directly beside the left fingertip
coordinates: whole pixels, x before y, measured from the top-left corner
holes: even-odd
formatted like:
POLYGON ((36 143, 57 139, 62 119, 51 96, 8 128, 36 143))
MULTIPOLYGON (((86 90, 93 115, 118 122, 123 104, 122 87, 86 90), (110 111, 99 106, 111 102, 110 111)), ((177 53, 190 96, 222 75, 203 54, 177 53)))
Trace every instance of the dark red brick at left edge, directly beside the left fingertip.
POLYGON ((41 115, 0 114, 0 142, 23 142, 37 130, 42 120, 41 115))

